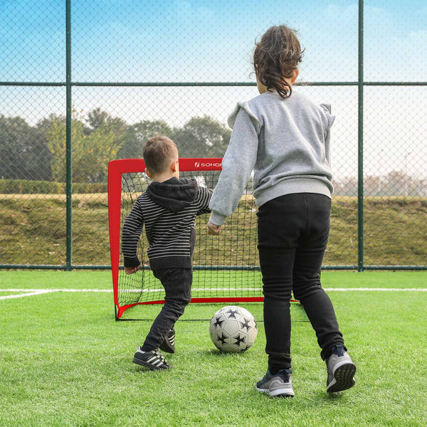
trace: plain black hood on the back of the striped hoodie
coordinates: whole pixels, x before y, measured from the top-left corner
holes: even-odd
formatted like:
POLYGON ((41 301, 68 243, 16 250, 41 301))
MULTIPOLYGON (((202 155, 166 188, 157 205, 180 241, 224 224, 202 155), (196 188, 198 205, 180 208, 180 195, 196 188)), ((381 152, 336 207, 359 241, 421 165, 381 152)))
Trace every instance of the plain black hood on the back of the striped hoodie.
POLYGON ((197 196, 195 179, 176 178, 167 181, 154 181, 145 191, 149 199, 171 212, 180 212, 189 206, 197 196))

